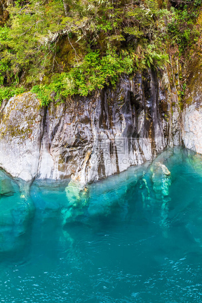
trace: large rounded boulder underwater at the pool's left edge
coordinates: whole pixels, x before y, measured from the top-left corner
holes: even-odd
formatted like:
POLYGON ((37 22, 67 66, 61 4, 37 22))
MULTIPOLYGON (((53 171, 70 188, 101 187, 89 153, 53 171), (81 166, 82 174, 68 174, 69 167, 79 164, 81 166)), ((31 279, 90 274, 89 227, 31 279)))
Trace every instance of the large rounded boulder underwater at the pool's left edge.
POLYGON ((0 192, 0 253, 13 253, 23 249, 27 242, 35 207, 11 179, 0 180, 0 192))

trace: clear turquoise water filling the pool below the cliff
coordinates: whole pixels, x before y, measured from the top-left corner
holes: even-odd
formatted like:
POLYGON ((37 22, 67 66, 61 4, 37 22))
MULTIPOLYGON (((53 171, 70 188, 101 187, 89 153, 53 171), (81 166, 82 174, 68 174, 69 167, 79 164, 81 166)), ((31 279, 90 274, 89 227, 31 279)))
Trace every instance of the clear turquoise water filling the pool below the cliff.
POLYGON ((0 302, 202 302, 200 155, 168 150, 73 194, 12 188, 0 196, 0 302))

